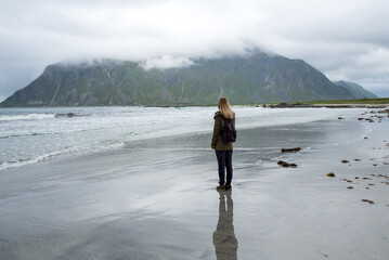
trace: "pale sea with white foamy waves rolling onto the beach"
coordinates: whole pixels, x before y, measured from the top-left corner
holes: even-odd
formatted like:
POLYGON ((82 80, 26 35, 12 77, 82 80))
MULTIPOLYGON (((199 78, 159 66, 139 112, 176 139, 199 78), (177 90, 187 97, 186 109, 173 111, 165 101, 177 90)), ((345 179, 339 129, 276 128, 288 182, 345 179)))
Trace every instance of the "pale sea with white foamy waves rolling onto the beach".
MULTIPOLYGON (((334 119, 356 113, 326 108, 234 107, 234 110, 237 130, 334 119)), ((2 108, 0 171, 61 156, 120 148, 139 140, 211 132, 216 107, 2 108)))

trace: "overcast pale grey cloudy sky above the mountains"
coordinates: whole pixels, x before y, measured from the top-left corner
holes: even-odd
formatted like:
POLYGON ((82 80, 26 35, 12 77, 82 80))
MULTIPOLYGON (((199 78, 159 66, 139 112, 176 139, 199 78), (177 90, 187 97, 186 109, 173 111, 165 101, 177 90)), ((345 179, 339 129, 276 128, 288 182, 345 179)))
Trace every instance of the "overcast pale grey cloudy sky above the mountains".
POLYGON ((261 48, 389 98, 388 0, 1 0, 0 102, 46 66, 145 67, 261 48))

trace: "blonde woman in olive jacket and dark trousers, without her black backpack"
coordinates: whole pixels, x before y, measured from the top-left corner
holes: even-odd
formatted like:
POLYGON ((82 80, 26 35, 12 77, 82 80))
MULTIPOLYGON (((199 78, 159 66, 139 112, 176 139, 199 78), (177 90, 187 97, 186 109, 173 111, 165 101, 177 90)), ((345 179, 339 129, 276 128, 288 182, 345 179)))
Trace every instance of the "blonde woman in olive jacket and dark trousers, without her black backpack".
POLYGON ((213 134, 211 141, 211 148, 216 152, 219 166, 219 186, 218 190, 232 190, 232 142, 223 143, 221 140, 221 130, 225 126, 225 120, 229 119, 235 125, 235 113, 231 109, 230 103, 225 98, 218 101, 219 110, 215 114, 213 134), (226 169, 226 178, 225 176, 226 169))

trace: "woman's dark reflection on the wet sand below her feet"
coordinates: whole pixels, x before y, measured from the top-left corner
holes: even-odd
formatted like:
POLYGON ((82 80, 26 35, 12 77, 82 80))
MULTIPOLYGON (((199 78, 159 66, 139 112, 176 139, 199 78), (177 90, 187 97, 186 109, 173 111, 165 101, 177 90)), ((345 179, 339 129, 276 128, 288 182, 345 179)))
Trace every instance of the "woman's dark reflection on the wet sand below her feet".
POLYGON ((237 259, 237 240, 234 233, 233 214, 234 207, 231 198, 231 191, 221 192, 219 204, 219 221, 213 232, 213 245, 218 260, 237 259), (226 197, 226 206, 225 206, 226 197))

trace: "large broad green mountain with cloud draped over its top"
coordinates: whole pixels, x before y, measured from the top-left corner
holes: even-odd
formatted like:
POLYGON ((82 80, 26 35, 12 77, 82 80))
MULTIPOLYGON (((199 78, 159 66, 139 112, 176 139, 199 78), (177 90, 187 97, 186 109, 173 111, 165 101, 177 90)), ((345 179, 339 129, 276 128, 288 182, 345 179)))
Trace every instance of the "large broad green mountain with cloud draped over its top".
POLYGON ((180 68, 102 60, 49 65, 1 106, 232 104, 355 99, 301 60, 261 51, 192 60, 180 68))

